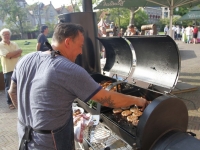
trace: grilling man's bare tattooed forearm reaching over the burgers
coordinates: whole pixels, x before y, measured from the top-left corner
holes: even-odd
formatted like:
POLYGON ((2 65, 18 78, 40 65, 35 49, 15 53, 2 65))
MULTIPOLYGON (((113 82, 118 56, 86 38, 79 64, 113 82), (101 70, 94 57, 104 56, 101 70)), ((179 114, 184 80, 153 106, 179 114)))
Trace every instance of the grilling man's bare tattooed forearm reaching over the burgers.
POLYGON ((142 107, 143 110, 148 105, 148 102, 144 98, 106 91, 105 89, 101 89, 96 95, 92 97, 92 100, 101 103, 103 106, 111 108, 137 105, 142 107))

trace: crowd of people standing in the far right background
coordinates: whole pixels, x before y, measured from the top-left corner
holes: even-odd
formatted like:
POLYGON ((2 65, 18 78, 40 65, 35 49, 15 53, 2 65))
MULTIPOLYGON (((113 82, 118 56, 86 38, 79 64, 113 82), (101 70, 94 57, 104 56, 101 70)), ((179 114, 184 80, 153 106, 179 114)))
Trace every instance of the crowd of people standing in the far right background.
MULTIPOLYGON (((165 26, 164 28, 164 34, 169 35, 169 27, 168 25, 165 26)), ((180 27, 179 25, 177 26, 172 26, 172 33, 173 33, 173 38, 174 40, 182 40, 183 42, 190 44, 197 44, 198 40, 198 27, 197 26, 190 26, 188 25, 187 27, 180 27)))

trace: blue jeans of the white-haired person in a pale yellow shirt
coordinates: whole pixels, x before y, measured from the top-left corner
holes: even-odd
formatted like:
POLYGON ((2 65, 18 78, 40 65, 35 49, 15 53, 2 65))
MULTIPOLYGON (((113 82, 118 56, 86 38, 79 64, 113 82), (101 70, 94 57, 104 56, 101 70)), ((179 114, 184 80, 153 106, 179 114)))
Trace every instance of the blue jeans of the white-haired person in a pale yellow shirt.
POLYGON ((6 94, 6 98, 7 98, 7 104, 10 105, 12 104, 12 101, 10 99, 10 96, 8 94, 8 90, 10 88, 10 83, 11 83, 11 76, 12 76, 12 71, 8 72, 8 73, 4 73, 4 83, 5 83, 5 94, 6 94))

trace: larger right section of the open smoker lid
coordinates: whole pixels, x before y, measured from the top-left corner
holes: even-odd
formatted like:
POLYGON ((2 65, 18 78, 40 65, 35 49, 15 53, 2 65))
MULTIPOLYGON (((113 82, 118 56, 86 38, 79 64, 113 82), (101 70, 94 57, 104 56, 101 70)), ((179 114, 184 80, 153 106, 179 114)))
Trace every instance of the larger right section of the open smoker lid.
POLYGON ((137 59, 133 79, 173 89, 180 70, 179 49, 170 36, 127 37, 137 59))

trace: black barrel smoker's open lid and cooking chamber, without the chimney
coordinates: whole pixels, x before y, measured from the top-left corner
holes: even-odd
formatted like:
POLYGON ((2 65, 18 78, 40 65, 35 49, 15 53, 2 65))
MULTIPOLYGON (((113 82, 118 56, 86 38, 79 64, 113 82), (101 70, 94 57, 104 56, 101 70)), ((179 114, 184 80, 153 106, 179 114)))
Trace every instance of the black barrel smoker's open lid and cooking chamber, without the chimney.
POLYGON ((169 94, 176 85, 180 70, 179 50, 174 40, 169 36, 99 40, 107 56, 104 71, 122 77, 129 85, 129 90, 122 93, 152 101, 144 110, 137 127, 113 115, 112 110, 101 112, 103 122, 135 149, 198 149, 200 141, 186 132, 188 111, 185 104, 169 94), (133 65, 135 56, 136 65, 133 65), (135 80, 147 82, 149 87, 138 87, 135 80))

